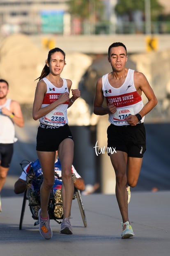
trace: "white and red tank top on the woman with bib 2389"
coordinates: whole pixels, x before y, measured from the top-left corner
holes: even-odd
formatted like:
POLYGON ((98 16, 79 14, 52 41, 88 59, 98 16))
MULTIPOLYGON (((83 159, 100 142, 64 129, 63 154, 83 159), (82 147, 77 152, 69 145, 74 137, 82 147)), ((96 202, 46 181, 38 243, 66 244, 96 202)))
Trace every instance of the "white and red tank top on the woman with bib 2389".
MULTIPOLYGON (((67 87, 66 79, 62 78, 63 86, 61 88, 55 87, 47 78, 43 78, 44 82, 47 86, 47 92, 44 96, 41 108, 44 108, 50 105, 52 102, 57 101, 60 94, 64 92, 69 93, 69 89, 67 87)), ((60 104, 56 108, 54 108, 50 113, 44 115, 43 117, 39 118, 39 122, 42 124, 47 125, 54 125, 54 126, 63 126, 64 124, 68 123, 67 118, 67 108, 69 105, 69 101, 66 101, 63 104, 60 104)))

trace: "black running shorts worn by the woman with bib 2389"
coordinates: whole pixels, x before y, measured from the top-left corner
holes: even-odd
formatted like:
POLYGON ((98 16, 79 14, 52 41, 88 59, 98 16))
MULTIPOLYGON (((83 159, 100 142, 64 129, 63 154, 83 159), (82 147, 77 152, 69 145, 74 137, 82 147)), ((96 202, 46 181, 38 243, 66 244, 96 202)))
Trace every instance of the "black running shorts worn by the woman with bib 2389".
POLYGON ((67 138, 73 139, 68 124, 60 127, 40 124, 37 132, 36 150, 46 152, 56 151, 60 143, 67 138))

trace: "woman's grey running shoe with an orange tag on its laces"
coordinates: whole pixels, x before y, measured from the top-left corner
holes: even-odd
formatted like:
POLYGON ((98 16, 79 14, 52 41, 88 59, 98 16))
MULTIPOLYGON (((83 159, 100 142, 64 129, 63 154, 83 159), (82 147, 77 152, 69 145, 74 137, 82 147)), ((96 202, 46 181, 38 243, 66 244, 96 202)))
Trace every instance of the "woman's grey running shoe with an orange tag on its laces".
POLYGON ((42 237, 45 239, 50 239, 53 235, 53 231, 50 226, 50 219, 48 216, 47 220, 44 220, 41 218, 41 209, 39 209, 38 212, 38 217, 39 217, 39 232, 42 237))

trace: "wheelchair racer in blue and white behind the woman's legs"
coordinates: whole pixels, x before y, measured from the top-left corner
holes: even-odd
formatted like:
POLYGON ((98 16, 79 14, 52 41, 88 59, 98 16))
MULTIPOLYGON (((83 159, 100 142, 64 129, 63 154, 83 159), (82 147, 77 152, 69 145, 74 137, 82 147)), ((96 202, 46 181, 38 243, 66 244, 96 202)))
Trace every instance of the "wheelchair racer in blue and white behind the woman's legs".
MULTIPOLYGON (((78 174, 74 166, 72 165, 72 180, 74 187, 79 190, 85 189, 85 183, 83 178, 78 174)), ((30 211, 32 212, 32 218, 38 219, 38 211, 40 209, 40 186, 42 183, 42 169, 40 162, 37 159, 35 162, 31 162, 26 165, 23 169, 21 176, 18 178, 14 184, 14 192, 16 194, 23 193, 26 188, 30 187, 28 200, 30 211), (27 175, 28 174, 28 175, 27 175), (33 176, 33 178, 32 178, 33 176)), ((53 198, 55 200, 55 207, 53 209, 53 214, 55 218, 62 218, 62 197, 61 197, 61 188, 62 188, 62 169, 59 158, 57 158, 56 151, 56 161, 55 161, 55 182, 53 185, 53 198)), ((50 215, 50 214, 49 214, 50 215)))

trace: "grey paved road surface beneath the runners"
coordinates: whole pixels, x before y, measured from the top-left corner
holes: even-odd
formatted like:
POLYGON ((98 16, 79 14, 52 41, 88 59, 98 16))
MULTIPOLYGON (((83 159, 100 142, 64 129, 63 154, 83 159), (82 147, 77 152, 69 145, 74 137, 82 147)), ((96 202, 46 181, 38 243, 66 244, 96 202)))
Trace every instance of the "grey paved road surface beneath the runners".
POLYGON ((170 192, 132 192, 129 216, 135 237, 122 240, 121 218, 115 195, 83 195, 87 228, 73 201, 73 235, 60 234, 51 221, 53 237, 45 240, 26 206, 23 229, 18 223, 22 197, 2 197, 0 256, 168 256, 170 252, 170 192))

